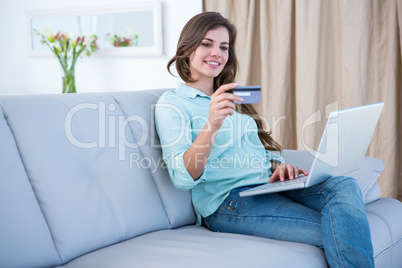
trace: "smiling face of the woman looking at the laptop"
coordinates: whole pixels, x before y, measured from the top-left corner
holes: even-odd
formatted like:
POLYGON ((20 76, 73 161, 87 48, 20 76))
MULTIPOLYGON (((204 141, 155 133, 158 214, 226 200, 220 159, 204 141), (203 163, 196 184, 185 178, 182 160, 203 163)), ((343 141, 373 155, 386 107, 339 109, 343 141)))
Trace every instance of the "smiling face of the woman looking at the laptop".
POLYGON ((191 78, 208 80, 217 77, 229 58, 229 32, 225 27, 210 30, 190 55, 191 78))

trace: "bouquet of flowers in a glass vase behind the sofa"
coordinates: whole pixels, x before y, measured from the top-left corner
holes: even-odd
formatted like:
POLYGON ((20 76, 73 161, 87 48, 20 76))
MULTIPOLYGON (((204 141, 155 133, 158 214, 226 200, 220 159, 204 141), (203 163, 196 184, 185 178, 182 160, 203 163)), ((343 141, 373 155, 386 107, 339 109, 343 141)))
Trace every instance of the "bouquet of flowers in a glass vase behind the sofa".
POLYGON ((50 26, 46 26, 43 32, 35 29, 35 33, 42 38, 41 43, 50 48, 61 64, 64 73, 63 93, 76 93, 75 64, 82 53, 85 52, 89 57, 99 49, 96 44, 97 36, 95 34, 77 36, 63 31, 53 35, 50 26))

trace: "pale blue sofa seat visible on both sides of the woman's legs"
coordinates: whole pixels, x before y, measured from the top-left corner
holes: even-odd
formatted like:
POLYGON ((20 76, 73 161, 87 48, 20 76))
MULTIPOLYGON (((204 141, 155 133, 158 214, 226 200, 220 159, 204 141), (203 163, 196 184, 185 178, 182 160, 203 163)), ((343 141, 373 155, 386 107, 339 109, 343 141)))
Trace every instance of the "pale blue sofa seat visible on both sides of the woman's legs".
MULTIPOLYGON (((376 267, 401 267, 402 203, 366 206, 376 267)), ((328 267, 314 246, 185 226, 138 236, 65 264, 74 267, 328 267)))

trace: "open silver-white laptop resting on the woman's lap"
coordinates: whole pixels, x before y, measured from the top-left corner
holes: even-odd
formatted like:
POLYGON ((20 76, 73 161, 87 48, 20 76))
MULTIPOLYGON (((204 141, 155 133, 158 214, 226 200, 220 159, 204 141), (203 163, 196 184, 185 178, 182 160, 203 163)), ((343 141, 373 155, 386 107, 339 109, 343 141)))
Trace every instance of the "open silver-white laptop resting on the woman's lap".
POLYGON ((384 103, 379 102, 331 112, 317 151, 308 152, 313 158, 311 166, 303 167, 290 163, 306 169, 308 176, 300 175, 294 180, 266 183, 242 191, 240 196, 307 188, 330 177, 359 169, 383 107, 384 103))

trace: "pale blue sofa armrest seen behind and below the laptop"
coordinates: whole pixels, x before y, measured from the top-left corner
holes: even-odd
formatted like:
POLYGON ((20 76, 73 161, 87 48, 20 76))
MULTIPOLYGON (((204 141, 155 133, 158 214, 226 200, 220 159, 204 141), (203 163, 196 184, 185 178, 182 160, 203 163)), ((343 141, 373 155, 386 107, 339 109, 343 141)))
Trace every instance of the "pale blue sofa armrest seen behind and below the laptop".
MULTIPOLYGON (((286 162, 299 168, 309 170, 314 160, 314 155, 308 151, 283 150, 286 162)), ((360 169, 346 173, 345 176, 353 177, 359 183, 365 204, 380 198, 377 179, 384 170, 384 162, 378 158, 364 157, 360 169)))

